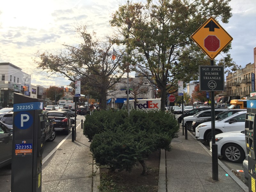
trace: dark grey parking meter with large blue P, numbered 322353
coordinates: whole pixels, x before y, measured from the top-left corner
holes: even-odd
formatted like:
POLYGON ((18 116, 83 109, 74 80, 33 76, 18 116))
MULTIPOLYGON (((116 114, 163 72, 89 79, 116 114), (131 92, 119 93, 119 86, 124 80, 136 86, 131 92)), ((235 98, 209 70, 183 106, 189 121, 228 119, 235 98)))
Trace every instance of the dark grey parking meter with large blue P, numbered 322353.
POLYGON ((13 93, 12 192, 41 192, 43 100, 13 93))

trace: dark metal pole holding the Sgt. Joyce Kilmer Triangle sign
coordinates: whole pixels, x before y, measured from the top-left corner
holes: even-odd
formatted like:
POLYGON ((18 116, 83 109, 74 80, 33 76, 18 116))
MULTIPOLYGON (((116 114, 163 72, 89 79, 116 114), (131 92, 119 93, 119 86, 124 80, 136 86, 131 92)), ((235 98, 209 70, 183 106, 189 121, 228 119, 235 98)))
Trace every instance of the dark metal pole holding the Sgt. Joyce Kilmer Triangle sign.
MULTIPOLYGON (((213 66, 213 60, 211 60, 211 66, 213 66)), ((218 181, 218 145, 215 144, 215 100, 214 91, 211 91, 211 115, 212 115, 212 179, 218 181)))

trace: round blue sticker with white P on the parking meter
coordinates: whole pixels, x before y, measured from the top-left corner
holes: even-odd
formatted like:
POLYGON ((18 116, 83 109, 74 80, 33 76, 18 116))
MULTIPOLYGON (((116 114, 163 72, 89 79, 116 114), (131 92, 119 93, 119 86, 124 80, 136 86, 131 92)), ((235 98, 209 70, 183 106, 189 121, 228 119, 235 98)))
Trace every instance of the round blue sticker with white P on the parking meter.
POLYGON ((29 112, 22 111, 14 116, 14 124, 19 129, 28 129, 34 122, 32 115, 29 112))

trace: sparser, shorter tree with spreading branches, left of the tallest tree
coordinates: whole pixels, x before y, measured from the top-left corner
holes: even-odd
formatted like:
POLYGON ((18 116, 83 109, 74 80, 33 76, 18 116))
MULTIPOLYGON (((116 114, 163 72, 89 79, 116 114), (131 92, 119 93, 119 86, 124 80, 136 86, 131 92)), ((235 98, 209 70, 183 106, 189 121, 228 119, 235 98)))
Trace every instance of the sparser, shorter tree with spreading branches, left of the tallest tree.
MULTIPOLYGON (((107 107, 107 92, 123 75, 123 53, 119 49, 116 59, 112 60, 113 43, 108 37, 106 42, 96 39, 95 33, 87 32, 86 26, 77 26, 76 32, 82 39, 77 46, 64 44, 65 50, 57 54, 49 52, 37 53, 35 63, 39 69, 50 73, 49 76, 60 74, 75 82, 81 80, 81 88, 86 88, 90 95, 97 95, 100 108, 107 107)), ((84 90, 83 90, 84 91, 84 90)))

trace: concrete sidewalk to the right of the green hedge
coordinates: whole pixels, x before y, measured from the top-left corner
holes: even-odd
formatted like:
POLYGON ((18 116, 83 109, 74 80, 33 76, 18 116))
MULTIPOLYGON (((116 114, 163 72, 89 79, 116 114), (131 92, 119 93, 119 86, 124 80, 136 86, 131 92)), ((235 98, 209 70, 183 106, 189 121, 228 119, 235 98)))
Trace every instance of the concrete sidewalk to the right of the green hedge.
POLYGON ((188 140, 185 140, 182 127, 179 136, 172 140, 171 151, 161 150, 158 192, 249 191, 220 160, 219 181, 212 180, 211 152, 189 131, 188 140))

